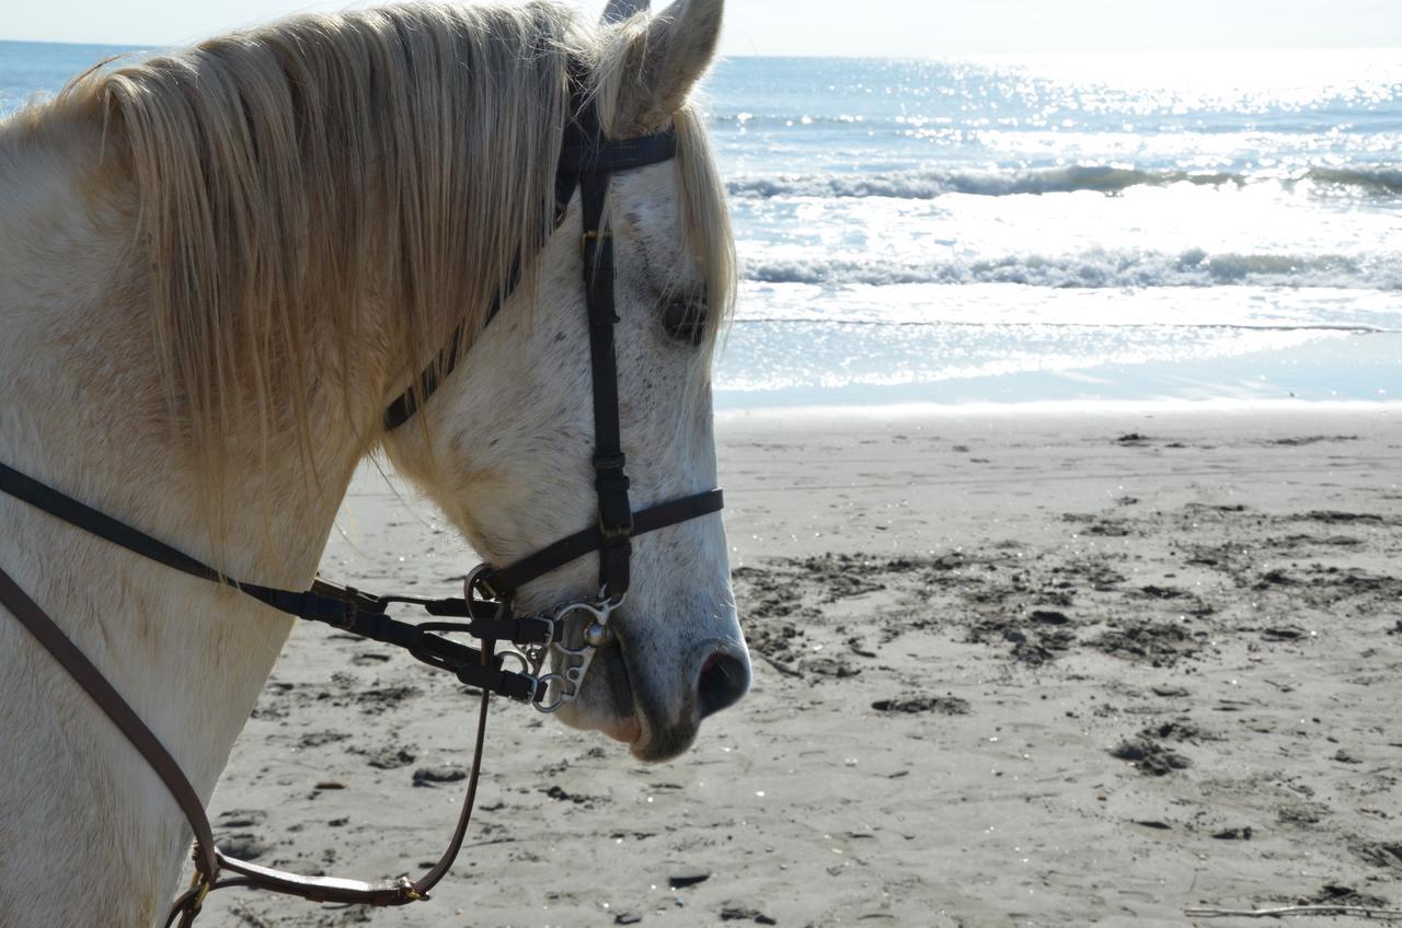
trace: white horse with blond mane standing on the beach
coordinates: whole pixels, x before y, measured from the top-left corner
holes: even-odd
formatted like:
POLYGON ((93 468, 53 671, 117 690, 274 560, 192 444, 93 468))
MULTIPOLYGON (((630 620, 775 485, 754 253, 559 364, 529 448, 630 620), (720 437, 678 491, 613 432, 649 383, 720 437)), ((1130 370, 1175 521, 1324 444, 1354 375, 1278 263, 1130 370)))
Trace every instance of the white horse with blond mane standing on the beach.
MULTIPOLYGON (((377 447, 494 564, 587 527, 578 196, 552 216, 582 64, 611 137, 679 136, 676 161, 610 193, 632 499, 714 486, 709 353, 735 259, 687 94, 722 0, 632 6, 601 27, 541 1, 301 17, 95 70, 0 123, 0 463, 287 589, 377 447), (517 254, 534 258, 486 325, 517 254), (386 404, 460 325, 456 373, 387 435, 386 404)), ((290 621, 4 495, 0 566, 207 800, 290 621)), ((517 601, 589 599, 596 571, 582 558, 517 601)), ((638 538, 632 576, 621 645, 564 716, 660 760, 749 685, 719 519, 638 538)), ((0 925, 150 925, 189 840, 0 608, 0 925)))

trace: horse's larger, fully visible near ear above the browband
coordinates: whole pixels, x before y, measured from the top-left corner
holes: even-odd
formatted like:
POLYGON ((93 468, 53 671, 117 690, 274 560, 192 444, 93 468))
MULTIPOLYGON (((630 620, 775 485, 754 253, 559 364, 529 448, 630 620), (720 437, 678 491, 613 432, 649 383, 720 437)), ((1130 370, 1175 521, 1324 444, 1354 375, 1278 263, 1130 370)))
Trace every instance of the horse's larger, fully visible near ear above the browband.
POLYGON ((725 0, 677 0, 632 36, 615 130, 656 129, 681 109, 715 57, 723 10, 725 0))

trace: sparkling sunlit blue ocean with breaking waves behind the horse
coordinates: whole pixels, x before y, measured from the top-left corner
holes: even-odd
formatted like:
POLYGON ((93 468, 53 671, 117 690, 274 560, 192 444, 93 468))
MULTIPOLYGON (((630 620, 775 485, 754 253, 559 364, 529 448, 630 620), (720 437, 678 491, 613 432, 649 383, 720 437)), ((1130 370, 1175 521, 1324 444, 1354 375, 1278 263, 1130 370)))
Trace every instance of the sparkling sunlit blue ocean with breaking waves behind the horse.
MULTIPOLYGON (((0 112, 121 49, 0 42, 0 112)), ((1402 397, 1402 49, 722 62, 719 407, 1402 397)))

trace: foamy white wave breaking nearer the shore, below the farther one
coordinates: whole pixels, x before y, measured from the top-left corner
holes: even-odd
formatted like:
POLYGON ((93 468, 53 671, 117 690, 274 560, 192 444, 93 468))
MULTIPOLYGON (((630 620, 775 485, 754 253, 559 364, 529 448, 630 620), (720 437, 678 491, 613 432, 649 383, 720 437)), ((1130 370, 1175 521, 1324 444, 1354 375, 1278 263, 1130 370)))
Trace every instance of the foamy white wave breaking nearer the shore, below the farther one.
POLYGON ((1075 255, 1012 255, 967 262, 894 265, 880 261, 810 258, 753 261, 744 279, 757 283, 871 285, 1021 283, 1039 287, 1288 286, 1402 290, 1402 259, 1345 255, 1091 251, 1075 255))

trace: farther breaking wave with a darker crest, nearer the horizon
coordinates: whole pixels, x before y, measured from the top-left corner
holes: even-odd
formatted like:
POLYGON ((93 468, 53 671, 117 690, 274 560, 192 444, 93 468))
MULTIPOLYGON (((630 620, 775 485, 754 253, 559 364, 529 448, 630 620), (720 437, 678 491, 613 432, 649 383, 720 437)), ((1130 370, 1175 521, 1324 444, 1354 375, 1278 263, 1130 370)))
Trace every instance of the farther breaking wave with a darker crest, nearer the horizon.
POLYGON ((977 196, 1011 196, 1016 193, 1071 193, 1092 191, 1120 193, 1133 186, 1168 186, 1195 184, 1199 186, 1245 186, 1274 182, 1286 188, 1309 184, 1335 192, 1356 192, 1373 196, 1402 196, 1402 170, 1384 167, 1325 168, 1280 174, 1147 171, 1112 165, 1078 164, 1056 168, 1005 171, 896 171, 878 174, 810 174, 778 177, 747 177, 729 182, 732 196, 746 199, 774 199, 791 196, 894 198, 935 199, 946 193, 977 196))

